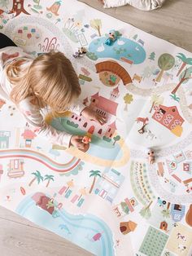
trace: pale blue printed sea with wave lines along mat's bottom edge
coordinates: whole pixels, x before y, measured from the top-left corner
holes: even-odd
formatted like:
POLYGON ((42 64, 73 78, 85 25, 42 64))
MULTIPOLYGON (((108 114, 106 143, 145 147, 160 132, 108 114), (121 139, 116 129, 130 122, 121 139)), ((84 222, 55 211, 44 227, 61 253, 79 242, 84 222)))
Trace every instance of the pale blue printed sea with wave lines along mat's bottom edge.
POLYGON ((62 209, 58 210, 58 216, 53 218, 46 210, 38 207, 31 196, 27 196, 24 201, 20 202, 16 212, 33 223, 89 250, 94 255, 115 255, 111 229, 102 219, 92 214, 73 215, 62 209), (96 240, 93 237, 98 233, 101 237, 96 240))

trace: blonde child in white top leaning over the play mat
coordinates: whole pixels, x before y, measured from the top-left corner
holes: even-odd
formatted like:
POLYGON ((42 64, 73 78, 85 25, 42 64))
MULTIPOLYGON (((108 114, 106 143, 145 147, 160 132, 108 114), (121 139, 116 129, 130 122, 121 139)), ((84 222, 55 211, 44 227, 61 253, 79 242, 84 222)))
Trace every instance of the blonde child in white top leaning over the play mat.
POLYGON ((0 33, 0 96, 17 105, 35 132, 52 143, 83 150, 82 136, 55 130, 42 115, 45 108, 52 113, 70 110, 103 125, 105 117, 85 105, 73 105, 80 94, 76 72, 62 52, 51 51, 33 59, 0 33))

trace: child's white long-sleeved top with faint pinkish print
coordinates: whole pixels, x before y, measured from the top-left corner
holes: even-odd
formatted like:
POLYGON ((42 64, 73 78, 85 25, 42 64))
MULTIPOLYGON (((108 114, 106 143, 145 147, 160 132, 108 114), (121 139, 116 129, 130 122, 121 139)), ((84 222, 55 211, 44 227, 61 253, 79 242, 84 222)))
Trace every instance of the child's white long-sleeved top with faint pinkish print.
MULTIPOLYGON (((0 49, 0 96, 7 100, 10 99, 12 90, 11 83, 7 80, 5 66, 10 64, 11 61, 22 58, 26 60, 24 65, 30 65, 33 62, 33 57, 24 52, 23 49, 16 46, 8 46, 0 49)), ((20 101, 17 106, 20 112, 24 115, 26 122, 31 130, 36 134, 46 137, 51 143, 59 144, 65 147, 69 146, 72 135, 64 131, 55 130, 52 126, 44 121, 45 108, 39 108, 37 104, 33 103, 33 96, 27 97, 20 101)), ((76 104, 72 105, 68 110, 72 113, 80 115, 85 105, 76 104)), ((47 109, 46 109, 47 113, 47 109)))

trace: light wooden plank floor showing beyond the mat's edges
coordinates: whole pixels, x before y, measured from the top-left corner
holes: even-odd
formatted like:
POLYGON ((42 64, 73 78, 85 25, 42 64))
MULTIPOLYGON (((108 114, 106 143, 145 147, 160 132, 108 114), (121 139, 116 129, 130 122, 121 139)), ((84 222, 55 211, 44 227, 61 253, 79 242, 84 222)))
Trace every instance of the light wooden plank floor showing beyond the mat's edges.
MULTIPOLYGON (((82 0, 102 10, 96 0, 82 0)), ((192 51, 192 1, 167 0, 164 7, 151 12, 133 7, 104 10, 159 38, 192 51)), ((116 28, 114 28, 116 29, 116 28)), ((1 256, 88 256, 85 250, 37 227, 17 214, 0 207, 1 256)), ((128 255, 129 256, 129 255, 128 255)))

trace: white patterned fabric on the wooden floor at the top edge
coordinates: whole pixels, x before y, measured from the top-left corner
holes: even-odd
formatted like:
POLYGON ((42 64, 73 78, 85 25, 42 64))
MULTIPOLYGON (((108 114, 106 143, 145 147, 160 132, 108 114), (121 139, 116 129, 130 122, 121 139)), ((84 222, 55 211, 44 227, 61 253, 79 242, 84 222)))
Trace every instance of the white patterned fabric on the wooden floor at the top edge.
POLYGON ((99 0, 103 2, 105 8, 121 7, 129 4, 142 11, 151 11, 162 7, 165 0, 99 0))

